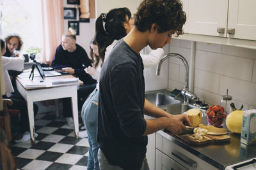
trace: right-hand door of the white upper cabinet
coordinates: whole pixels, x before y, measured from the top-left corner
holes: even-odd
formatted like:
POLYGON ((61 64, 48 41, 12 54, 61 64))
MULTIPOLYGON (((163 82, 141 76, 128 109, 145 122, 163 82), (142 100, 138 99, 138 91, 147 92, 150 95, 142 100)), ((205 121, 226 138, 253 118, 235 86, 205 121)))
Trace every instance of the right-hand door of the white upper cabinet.
POLYGON ((229 0, 228 37, 256 40, 255 7, 255 0, 229 0))

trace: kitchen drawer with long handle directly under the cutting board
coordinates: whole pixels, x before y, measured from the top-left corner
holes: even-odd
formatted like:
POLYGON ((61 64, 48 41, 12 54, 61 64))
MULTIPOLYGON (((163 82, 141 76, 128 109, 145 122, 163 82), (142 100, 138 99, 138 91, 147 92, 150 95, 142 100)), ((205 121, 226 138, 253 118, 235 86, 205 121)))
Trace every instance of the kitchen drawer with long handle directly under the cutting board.
POLYGON ((168 157, 171 157, 173 160, 179 162, 179 164, 182 164, 182 166, 188 169, 217 169, 199 157, 196 157, 196 155, 193 155, 193 153, 188 152, 184 148, 172 143, 172 141, 159 134, 156 136, 156 147, 161 150, 161 152, 168 155, 168 157))

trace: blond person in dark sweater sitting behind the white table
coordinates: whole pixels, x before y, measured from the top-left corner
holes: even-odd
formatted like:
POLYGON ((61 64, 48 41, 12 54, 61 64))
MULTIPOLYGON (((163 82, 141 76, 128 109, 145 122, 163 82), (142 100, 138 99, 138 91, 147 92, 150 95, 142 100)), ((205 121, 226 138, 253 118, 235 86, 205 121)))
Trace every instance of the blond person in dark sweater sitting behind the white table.
MULTIPOLYGON (((51 66, 56 70, 61 70, 77 76, 84 85, 77 90, 78 108, 83 105, 83 100, 95 89, 96 80, 84 71, 84 68, 92 66, 84 48, 76 43, 76 31, 72 28, 63 34, 62 43, 56 49, 51 66)), ((72 106, 70 97, 62 99, 63 116, 70 127, 74 127, 72 120, 72 106)))

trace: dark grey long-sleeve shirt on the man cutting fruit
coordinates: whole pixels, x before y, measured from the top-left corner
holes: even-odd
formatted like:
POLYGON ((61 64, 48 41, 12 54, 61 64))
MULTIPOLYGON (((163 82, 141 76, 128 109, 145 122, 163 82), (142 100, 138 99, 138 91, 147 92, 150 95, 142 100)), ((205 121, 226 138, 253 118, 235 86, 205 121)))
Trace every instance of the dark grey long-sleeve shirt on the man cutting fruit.
POLYGON ((121 39, 100 73, 97 141, 109 163, 140 169, 147 151, 144 102, 142 59, 121 39))

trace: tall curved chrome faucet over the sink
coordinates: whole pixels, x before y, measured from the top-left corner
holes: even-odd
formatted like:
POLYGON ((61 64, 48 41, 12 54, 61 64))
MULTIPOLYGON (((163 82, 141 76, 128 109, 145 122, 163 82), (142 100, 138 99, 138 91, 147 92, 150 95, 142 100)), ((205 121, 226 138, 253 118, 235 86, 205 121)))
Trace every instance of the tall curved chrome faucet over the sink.
POLYGON ((188 61, 182 55, 180 55, 179 53, 169 53, 169 54, 164 55, 163 57, 161 57, 158 65, 157 65, 156 75, 157 76, 160 75, 161 65, 163 64, 164 60, 166 60, 170 57, 175 57, 175 58, 178 58, 178 59, 182 60, 184 66, 185 66, 185 87, 181 91, 181 94, 184 96, 184 103, 188 103, 189 99, 196 100, 197 99, 196 94, 189 91, 189 88, 188 88, 188 74, 189 74, 188 61))

